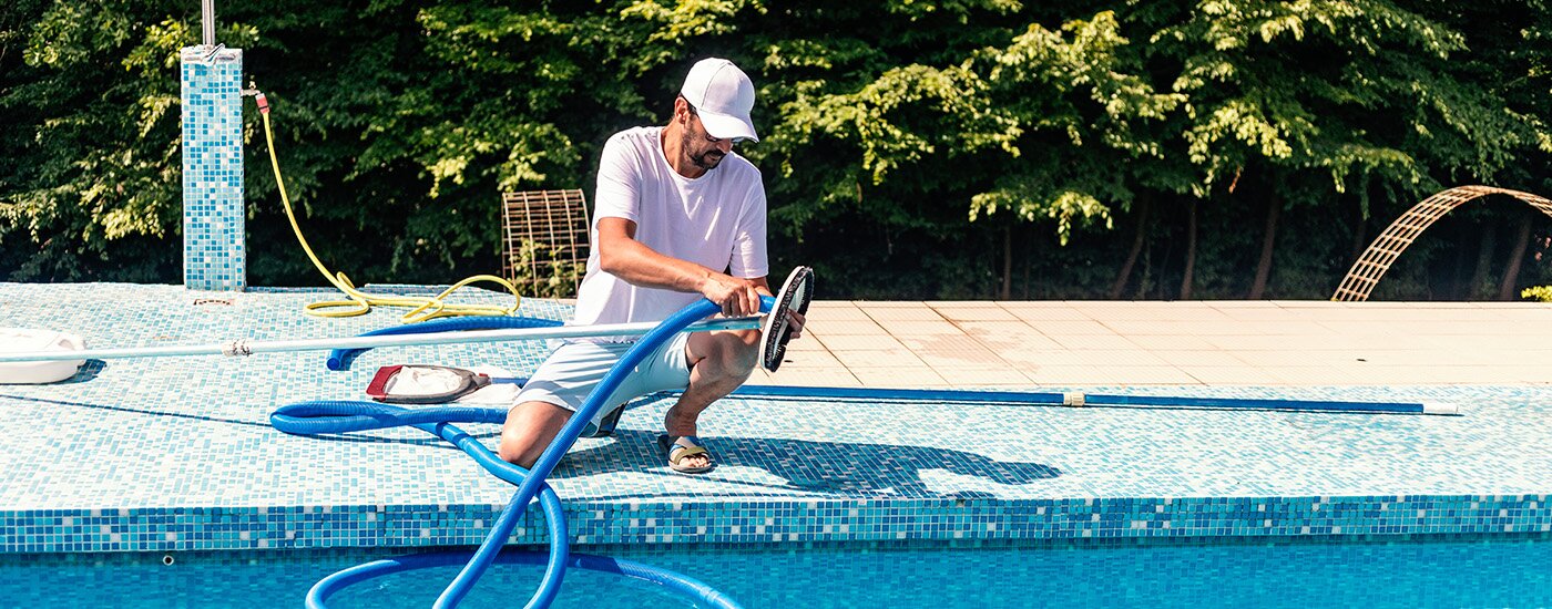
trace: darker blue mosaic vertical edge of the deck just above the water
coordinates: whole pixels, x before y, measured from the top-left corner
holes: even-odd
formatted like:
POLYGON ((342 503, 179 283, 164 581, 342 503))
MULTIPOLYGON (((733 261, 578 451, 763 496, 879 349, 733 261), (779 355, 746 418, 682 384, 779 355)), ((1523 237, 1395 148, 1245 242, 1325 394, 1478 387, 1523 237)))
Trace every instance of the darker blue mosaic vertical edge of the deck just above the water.
MULTIPOLYGON (((573 542, 778 544, 1552 532, 1546 494, 568 504, 573 542)), ((0 553, 473 545, 504 505, 0 513, 0 553)), ((546 544, 529 513, 511 542, 546 544)))

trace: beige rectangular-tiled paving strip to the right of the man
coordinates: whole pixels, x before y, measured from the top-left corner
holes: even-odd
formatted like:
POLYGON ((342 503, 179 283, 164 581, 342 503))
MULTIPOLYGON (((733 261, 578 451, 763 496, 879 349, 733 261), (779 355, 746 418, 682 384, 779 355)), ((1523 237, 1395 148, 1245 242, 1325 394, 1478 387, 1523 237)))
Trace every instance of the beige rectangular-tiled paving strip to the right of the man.
POLYGON ((1547 384, 1535 302, 815 302, 764 383, 1547 384))

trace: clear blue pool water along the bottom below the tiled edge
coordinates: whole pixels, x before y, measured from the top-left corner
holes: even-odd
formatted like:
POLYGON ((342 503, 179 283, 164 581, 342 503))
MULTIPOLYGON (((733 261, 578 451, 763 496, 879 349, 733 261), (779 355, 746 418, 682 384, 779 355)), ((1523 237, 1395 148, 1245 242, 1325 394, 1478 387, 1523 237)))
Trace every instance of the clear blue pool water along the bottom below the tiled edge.
MULTIPOLYGON (((584 549, 674 569, 747 607, 1552 606, 1552 536, 1391 541, 850 544, 694 552, 584 549)), ((0 556, 0 606, 301 606, 327 573, 386 550, 0 556)), ((497 566, 464 607, 528 600, 542 569, 497 566)), ((455 567, 397 573, 334 607, 425 607, 455 567)), ((571 570, 556 607, 686 606, 656 586, 571 570)))

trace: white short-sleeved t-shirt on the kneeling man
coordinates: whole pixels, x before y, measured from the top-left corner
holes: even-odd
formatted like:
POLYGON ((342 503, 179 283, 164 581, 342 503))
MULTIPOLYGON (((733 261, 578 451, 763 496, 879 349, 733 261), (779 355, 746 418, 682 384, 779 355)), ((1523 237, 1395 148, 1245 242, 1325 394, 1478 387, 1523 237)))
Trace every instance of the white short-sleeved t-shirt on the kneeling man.
MULTIPOLYGON (((577 290, 573 324, 663 321, 700 293, 644 288, 599 268, 598 222, 636 223, 636 242, 734 277, 770 274, 765 257, 765 186, 760 170, 736 152, 698 178, 686 178, 663 153, 663 127, 636 127, 608 138, 593 197, 593 251, 577 290)), ((633 339, 633 338, 624 338, 633 339)))

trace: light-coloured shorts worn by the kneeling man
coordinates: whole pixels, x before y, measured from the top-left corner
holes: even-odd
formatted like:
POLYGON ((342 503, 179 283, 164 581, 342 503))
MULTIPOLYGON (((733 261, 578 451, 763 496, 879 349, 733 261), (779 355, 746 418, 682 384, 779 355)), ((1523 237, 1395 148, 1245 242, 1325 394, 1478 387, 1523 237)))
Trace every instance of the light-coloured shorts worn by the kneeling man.
MULTIPOLYGON (((684 355, 688 339, 689 333, 680 333, 641 360, 641 364, 636 364, 636 369, 625 375, 619 387, 615 387, 615 394, 593 415, 593 425, 598 425, 599 418, 625 401, 660 391, 688 387, 689 361, 684 355)), ((635 342, 565 342, 554 353, 549 353, 543 364, 539 364, 539 370, 534 370, 534 377, 523 384, 523 391, 517 394, 512 406, 525 401, 543 401, 577 412, 587 397, 593 394, 593 387, 633 346, 635 342)))

